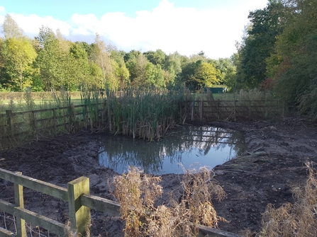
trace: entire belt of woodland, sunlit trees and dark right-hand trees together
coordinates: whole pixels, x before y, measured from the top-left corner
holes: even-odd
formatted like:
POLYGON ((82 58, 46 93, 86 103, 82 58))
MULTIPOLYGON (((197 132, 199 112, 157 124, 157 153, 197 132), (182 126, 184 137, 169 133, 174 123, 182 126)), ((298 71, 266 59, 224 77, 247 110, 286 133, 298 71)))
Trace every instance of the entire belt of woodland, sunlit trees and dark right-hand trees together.
MULTIPOLYGON (((230 58, 162 50, 124 52, 95 41, 71 42, 47 26, 27 37, 6 15, 0 38, 0 91, 109 90, 185 86, 191 90, 258 88, 299 114, 317 112, 317 1, 269 0, 250 11, 230 58)), ((213 45, 210 45, 213 47, 213 45)))

